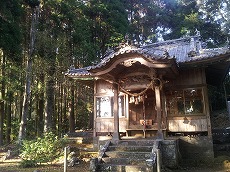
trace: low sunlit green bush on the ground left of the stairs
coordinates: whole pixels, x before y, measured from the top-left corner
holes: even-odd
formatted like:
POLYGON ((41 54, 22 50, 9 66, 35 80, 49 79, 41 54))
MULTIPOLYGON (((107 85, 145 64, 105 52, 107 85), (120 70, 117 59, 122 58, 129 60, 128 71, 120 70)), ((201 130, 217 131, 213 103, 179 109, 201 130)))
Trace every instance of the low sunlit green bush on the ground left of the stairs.
POLYGON ((58 139, 52 132, 36 140, 24 140, 21 150, 23 167, 36 166, 39 163, 52 162, 62 154, 66 138, 58 139))

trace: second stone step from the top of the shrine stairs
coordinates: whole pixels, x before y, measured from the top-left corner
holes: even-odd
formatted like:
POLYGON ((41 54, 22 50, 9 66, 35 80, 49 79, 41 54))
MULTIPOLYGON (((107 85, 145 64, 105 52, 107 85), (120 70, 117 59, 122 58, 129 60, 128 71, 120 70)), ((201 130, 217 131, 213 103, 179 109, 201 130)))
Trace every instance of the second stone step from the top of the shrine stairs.
POLYGON ((150 152, 108 151, 105 152, 105 156, 111 158, 149 159, 151 155, 150 152))

